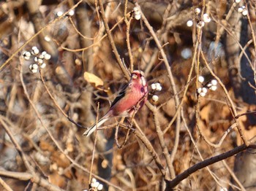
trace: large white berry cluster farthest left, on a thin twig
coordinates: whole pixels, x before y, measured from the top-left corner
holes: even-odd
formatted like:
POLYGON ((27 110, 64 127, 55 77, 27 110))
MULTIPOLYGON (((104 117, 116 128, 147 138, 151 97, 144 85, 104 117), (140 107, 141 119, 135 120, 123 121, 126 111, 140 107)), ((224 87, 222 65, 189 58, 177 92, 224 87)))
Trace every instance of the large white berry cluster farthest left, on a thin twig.
POLYGON ((34 63, 29 66, 29 69, 32 71, 32 73, 37 73, 39 67, 44 69, 46 66, 45 61, 50 60, 50 55, 48 52, 43 51, 40 53, 37 47, 32 47, 30 52, 25 51, 22 53, 22 55, 26 61, 34 61, 34 63))

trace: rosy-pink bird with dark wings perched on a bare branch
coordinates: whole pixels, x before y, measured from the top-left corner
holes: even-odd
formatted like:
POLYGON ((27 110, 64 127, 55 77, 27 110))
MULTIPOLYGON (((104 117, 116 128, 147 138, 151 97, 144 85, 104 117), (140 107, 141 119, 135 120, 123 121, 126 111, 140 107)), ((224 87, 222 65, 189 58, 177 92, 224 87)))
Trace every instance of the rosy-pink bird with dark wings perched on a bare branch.
POLYGON ((132 71, 129 82, 118 93, 108 112, 97 123, 88 128, 83 136, 90 136, 96 128, 99 128, 111 117, 134 117, 138 109, 146 103, 147 95, 148 84, 144 72, 140 70, 132 71))

